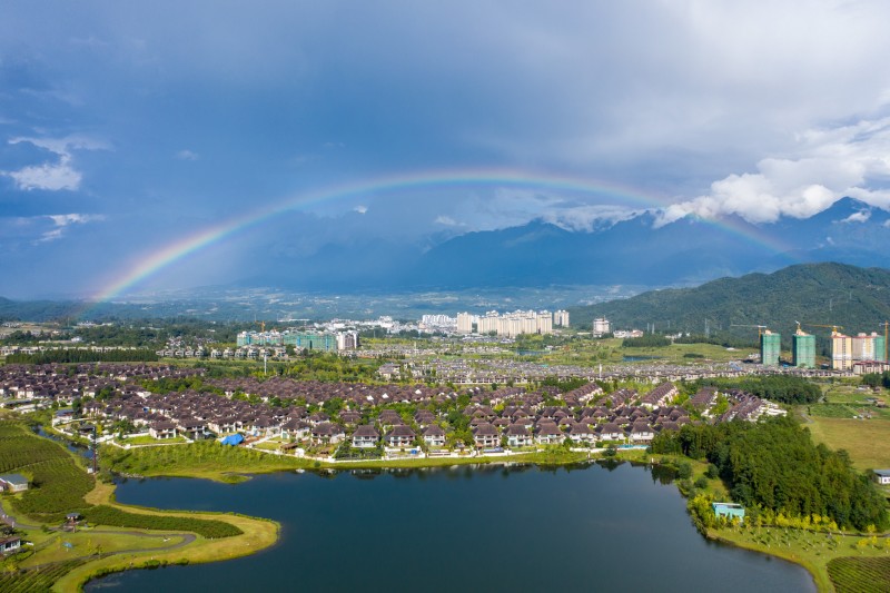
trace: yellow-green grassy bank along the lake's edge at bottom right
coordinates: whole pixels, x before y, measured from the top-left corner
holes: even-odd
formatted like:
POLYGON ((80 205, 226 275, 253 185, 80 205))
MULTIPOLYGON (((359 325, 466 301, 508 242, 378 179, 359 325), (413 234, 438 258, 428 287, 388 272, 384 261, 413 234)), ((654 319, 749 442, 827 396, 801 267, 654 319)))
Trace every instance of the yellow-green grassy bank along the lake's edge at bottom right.
MULTIPOLYGON (((851 591, 835 589, 829 565, 839 559, 890 561, 890 540, 861 537, 858 535, 829 535, 804 530, 782 527, 750 527, 710 530, 708 536, 802 565, 813 576, 819 591, 851 591), (864 542, 860 544, 860 542, 864 542)), ((888 591, 890 579, 873 583, 872 589, 864 591, 888 591)))

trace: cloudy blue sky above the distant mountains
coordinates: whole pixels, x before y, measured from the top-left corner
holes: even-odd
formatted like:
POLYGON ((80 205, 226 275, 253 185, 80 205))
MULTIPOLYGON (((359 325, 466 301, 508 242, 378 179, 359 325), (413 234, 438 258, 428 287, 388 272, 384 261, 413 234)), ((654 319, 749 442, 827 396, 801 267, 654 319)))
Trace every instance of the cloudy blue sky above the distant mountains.
POLYGON ((533 219, 890 209, 888 22, 883 1, 3 1, 0 296, 533 219), (405 178, 427 181, 380 181, 405 178))

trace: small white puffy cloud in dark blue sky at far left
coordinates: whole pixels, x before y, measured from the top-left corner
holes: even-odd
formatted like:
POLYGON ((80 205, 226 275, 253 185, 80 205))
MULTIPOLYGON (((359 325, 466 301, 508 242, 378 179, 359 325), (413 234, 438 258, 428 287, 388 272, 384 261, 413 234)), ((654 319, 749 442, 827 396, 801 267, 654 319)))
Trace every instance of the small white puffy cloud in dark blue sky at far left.
POLYGON ((69 190, 76 191, 80 188, 83 176, 71 166, 72 150, 101 150, 107 149, 108 145, 99 140, 69 136, 67 138, 12 138, 9 144, 17 145, 27 142, 38 148, 42 148, 58 157, 56 162, 43 162, 23 167, 17 171, 3 171, 1 175, 11 177, 19 189, 30 191, 31 189, 46 189, 49 191, 69 190))

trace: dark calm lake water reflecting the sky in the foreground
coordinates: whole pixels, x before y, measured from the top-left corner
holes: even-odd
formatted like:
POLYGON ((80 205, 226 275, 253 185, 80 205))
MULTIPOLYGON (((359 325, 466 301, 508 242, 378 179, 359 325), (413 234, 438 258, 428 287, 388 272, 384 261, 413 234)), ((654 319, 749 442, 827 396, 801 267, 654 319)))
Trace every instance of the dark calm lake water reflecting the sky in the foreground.
POLYGON ((117 498, 275 518, 281 540, 88 591, 815 590, 800 566, 704 540, 676 487, 630 464, 158 478, 121 483, 117 498))

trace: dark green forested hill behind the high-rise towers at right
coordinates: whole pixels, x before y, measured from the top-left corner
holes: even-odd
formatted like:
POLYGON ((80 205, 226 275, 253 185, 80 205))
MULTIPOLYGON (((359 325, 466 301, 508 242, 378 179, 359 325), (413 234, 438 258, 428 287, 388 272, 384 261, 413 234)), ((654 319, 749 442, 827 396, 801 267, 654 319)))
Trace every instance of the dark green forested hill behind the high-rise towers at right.
MULTIPOLYGON (((590 327, 605 316, 613 328, 640 328, 703 334, 705 319, 712 334, 756 338, 768 325, 790 339, 794 322, 835 324, 844 332, 877 332, 890 318, 890 270, 844 264, 800 264, 773 274, 721 278, 696 288, 652 290, 623 300, 570 309, 572 325, 590 327)), ((817 335, 828 329, 804 327, 817 335)))

